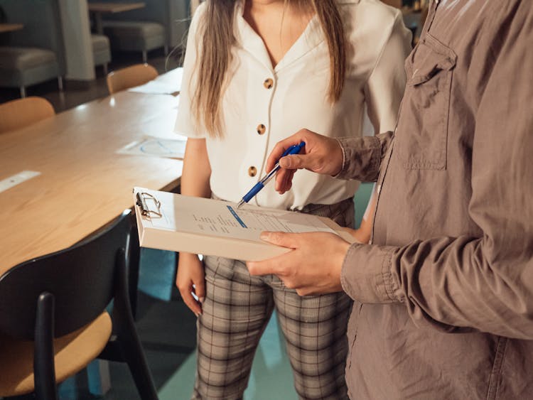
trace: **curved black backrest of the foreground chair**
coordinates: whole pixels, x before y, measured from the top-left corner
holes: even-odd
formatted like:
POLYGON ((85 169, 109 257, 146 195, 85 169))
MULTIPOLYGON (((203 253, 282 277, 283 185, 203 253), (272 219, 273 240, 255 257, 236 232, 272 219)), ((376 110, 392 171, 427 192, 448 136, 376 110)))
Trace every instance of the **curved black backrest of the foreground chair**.
POLYGON ((10 269, 0 276, 0 332, 33 340, 43 292, 55 298, 55 337, 95 320, 114 296, 117 254, 126 251, 128 267, 136 245, 131 210, 126 210, 82 242, 10 269))

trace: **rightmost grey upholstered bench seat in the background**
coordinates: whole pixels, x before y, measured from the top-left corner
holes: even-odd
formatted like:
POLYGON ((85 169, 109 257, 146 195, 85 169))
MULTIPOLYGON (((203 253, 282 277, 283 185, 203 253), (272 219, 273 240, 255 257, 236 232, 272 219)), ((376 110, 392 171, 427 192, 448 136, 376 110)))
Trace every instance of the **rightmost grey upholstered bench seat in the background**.
POLYGON ((114 50, 141 51, 146 63, 147 52, 165 48, 166 33, 161 23, 144 21, 104 21, 104 33, 114 50))

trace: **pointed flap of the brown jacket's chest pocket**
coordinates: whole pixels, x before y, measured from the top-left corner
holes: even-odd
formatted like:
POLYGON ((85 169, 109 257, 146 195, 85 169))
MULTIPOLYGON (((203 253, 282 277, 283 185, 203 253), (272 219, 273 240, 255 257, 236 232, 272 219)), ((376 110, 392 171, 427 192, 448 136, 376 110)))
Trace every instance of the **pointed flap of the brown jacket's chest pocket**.
MULTIPOLYGON (((439 71, 451 70, 456 66, 457 55, 433 36, 418 43, 416 52, 409 57, 407 85, 420 85, 434 77, 439 71)), ((406 68, 407 70, 407 68, 406 68)))

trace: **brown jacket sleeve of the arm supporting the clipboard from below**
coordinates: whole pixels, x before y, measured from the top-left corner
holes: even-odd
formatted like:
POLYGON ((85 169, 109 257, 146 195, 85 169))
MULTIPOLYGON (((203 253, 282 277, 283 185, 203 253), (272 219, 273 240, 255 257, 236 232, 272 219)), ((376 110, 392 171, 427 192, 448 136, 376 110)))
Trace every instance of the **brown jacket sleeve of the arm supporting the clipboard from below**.
POLYGON ((341 281, 363 303, 405 303, 419 325, 533 340, 533 11, 511 3, 488 24, 499 28, 476 88, 468 212, 483 235, 353 245, 341 281))

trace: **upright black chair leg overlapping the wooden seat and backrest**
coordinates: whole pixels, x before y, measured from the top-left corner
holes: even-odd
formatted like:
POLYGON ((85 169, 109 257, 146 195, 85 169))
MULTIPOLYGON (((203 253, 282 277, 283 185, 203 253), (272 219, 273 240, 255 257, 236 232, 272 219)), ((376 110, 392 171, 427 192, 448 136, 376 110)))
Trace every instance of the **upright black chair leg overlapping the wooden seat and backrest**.
POLYGON ((41 293, 37 300, 33 379, 38 400, 56 400, 54 364, 54 296, 41 293))

